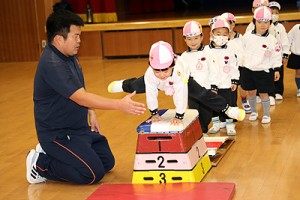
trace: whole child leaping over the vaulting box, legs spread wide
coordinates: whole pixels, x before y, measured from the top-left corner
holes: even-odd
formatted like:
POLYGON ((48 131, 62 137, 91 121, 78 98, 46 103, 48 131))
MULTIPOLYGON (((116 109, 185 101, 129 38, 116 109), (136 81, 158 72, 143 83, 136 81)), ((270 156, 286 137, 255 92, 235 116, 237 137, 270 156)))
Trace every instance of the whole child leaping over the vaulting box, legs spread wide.
POLYGON ((174 125, 182 123, 188 98, 239 121, 245 117, 243 109, 231 107, 223 97, 199 85, 190 76, 187 63, 181 56, 174 54, 171 45, 164 41, 156 42, 151 46, 149 67, 144 76, 113 81, 109 84, 108 91, 110 93, 131 91, 146 93, 147 106, 152 115, 150 121, 152 122, 161 120, 157 99, 159 91, 173 96, 176 115, 170 122, 174 125))

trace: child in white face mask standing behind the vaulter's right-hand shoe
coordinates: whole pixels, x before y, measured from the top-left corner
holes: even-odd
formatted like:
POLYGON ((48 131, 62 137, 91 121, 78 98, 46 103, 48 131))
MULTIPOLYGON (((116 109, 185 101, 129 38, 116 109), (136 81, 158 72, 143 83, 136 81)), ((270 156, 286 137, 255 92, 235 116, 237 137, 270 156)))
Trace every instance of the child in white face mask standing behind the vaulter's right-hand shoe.
MULTIPOLYGON (((239 81, 239 70, 235 53, 232 48, 227 46, 230 37, 230 27, 227 21, 219 17, 211 28, 211 42, 205 47, 209 69, 213 73, 209 74, 211 90, 223 96, 229 105, 232 102, 231 93, 236 91, 239 81)), ((236 135, 233 119, 223 113, 214 113, 212 118, 213 125, 209 133, 216 133, 220 128, 225 128, 228 135, 236 135)))

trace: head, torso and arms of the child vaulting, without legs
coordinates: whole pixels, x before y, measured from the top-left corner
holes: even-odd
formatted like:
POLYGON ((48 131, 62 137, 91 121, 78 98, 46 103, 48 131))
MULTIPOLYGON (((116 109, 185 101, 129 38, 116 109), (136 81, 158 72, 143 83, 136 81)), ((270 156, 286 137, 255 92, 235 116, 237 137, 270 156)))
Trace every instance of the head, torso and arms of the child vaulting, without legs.
POLYGON ((149 53, 150 66, 145 76, 145 92, 147 106, 151 112, 152 121, 160 121, 158 115, 158 91, 164 90, 166 95, 173 96, 176 115, 171 124, 178 124, 183 119, 187 108, 189 70, 180 57, 175 57, 171 45, 160 41, 151 46, 149 53), (176 59, 176 65, 175 65, 176 59))

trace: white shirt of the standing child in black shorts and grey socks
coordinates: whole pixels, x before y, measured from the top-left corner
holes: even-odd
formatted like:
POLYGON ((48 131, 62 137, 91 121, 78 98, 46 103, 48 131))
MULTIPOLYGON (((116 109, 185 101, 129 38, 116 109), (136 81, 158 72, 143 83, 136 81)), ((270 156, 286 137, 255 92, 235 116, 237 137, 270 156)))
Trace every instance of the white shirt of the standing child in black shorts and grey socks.
POLYGON ((254 31, 243 36, 242 66, 252 71, 266 71, 282 65, 281 49, 275 37, 269 33, 257 35, 254 31))

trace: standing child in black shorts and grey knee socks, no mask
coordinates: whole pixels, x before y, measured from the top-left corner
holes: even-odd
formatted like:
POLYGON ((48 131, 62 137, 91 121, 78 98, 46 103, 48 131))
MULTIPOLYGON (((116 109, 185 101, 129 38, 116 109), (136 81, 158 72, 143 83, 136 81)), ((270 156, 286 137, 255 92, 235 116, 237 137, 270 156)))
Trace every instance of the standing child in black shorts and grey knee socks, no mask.
POLYGON ((245 33, 242 40, 244 66, 241 71, 241 86, 248 91, 251 106, 250 121, 256 121, 256 93, 261 98, 263 117, 261 123, 271 122, 270 99, 268 93, 274 91, 274 81, 280 77, 282 65, 281 48, 275 37, 269 34, 272 11, 266 6, 259 7, 254 12, 255 28, 245 33))

